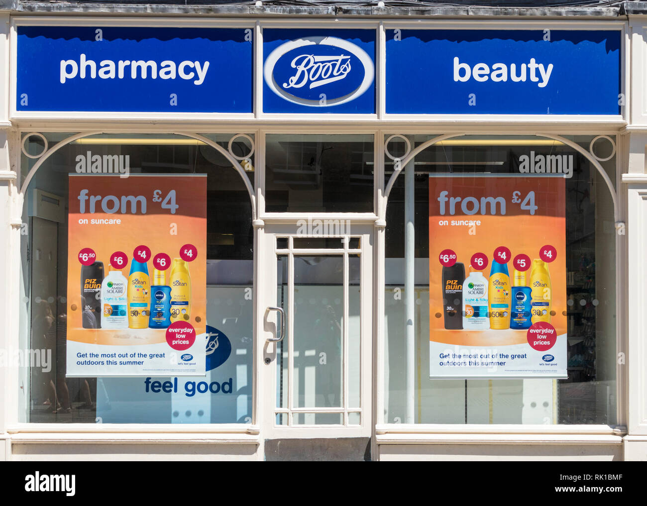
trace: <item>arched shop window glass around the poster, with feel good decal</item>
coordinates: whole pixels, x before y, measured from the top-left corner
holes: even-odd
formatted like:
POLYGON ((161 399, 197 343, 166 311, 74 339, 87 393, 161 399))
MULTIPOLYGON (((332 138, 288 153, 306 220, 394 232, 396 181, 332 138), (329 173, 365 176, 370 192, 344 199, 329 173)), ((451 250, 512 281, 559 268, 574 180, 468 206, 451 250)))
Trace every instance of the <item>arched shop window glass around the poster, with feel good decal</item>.
MULTIPOLYGON (((51 148, 70 135, 44 137, 51 148)), ((254 157, 247 157, 253 137, 206 137, 225 151, 231 149, 253 186, 254 157)), ((25 140, 29 155, 42 151, 43 138, 25 140)), ((22 182, 37 162, 38 158, 23 155, 22 182)), ((131 179, 135 188, 136 178, 131 179)), ((25 191, 23 223, 27 233, 21 243, 19 346, 25 353, 39 351, 44 359, 42 363, 23 361, 19 369, 20 421, 251 423, 252 204, 241 174, 228 157, 203 140, 174 135, 80 138, 58 149, 33 174, 25 191), (216 335, 207 343, 206 376, 69 377, 68 175, 78 172, 79 157, 91 160, 94 155, 102 160, 116 155, 126 162, 131 175, 206 175, 201 179, 206 182, 206 251, 198 253, 206 257, 206 325, 216 335)), ((116 245, 116 237, 114 241, 116 245)), ((108 258, 96 260, 107 270, 108 258)))

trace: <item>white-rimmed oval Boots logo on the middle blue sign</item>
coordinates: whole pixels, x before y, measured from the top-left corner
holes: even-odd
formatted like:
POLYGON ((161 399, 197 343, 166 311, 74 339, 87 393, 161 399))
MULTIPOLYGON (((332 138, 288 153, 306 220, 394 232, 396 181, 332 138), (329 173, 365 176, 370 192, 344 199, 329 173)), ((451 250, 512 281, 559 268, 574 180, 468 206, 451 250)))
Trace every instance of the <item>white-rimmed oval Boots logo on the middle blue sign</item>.
POLYGON ((270 89, 294 104, 330 107, 362 95, 375 65, 362 48, 336 37, 295 39, 274 49, 263 66, 270 89))

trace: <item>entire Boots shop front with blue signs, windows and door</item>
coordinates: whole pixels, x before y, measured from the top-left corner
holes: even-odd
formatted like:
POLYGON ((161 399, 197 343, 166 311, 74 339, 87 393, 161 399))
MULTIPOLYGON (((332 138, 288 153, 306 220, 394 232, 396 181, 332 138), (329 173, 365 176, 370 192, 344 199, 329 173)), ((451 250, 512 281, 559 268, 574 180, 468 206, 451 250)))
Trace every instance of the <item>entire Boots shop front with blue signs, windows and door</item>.
POLYGON ((626 18, 5 20, 6 459, 647 458, 626 18))

